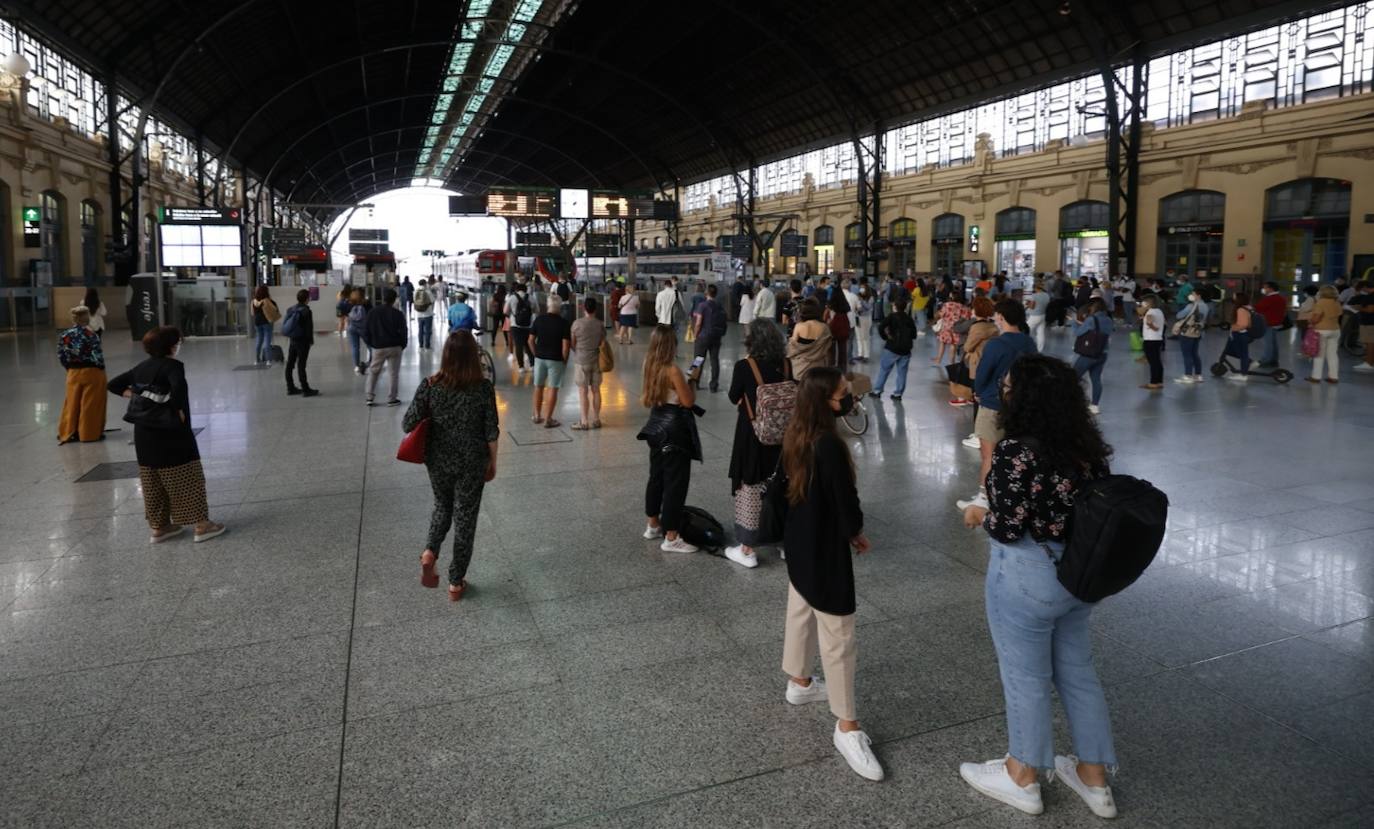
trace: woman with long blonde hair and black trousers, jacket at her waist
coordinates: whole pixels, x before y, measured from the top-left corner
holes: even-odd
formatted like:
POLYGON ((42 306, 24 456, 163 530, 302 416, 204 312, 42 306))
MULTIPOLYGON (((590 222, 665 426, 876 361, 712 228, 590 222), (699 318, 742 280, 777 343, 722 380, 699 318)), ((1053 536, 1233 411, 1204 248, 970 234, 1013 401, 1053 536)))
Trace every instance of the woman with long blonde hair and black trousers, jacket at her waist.
POLYGON ((697 547, 677 535, 691 462, 701 461, 694 407, 697 395, 677 359, 677 334, 672 326, 654 326, 644 355, 644 382, 640 403, 650 410, 639 440, 649 444, 649 484, 644 487, 646 539, 662 538, 664 553, 695 553, 697 547))

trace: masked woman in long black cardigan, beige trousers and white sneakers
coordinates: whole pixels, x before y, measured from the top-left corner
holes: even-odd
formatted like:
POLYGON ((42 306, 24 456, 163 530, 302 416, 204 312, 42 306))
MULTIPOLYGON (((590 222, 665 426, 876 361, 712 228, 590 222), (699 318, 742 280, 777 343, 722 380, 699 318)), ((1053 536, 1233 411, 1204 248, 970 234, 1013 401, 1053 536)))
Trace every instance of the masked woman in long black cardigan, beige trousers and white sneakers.
POLYGON ((801 379, 797 408, 782 441, 787 476, 787 623, 782 670, 793 705, 830 703, 833 741, 863 778, 882 780, 882 764, 855 712, 855 575, 852 553, 867 553, 863 510, 849 447, 835 417, 853 408, 849 382, 820 366, 801 379), (816 649, 826 676, 811 676, 816 649))

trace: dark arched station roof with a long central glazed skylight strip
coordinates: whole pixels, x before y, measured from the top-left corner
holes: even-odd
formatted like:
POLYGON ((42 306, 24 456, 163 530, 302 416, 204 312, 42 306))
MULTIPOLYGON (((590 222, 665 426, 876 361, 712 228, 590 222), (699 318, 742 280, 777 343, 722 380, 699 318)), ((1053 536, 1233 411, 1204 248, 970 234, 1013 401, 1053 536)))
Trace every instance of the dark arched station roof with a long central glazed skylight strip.
POLYGON ((1340 5, 0 0, 293 203, 671 188, 1340 5))

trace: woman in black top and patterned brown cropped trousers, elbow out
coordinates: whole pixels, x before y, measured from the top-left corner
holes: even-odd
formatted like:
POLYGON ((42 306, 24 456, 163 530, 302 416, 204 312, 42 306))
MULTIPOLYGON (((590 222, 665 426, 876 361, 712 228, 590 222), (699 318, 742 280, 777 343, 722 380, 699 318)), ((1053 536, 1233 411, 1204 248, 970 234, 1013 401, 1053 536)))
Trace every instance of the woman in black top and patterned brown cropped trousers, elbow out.
POLYGON ((142 396, 153 401, 148 417, 133 423, 133 452, 139 459, 143 511, 153 528, 154 544, 181 535, 195 525, 195 540, 224 535, 225 527, 210 521, 205 495, 201 450, 191 432, 191 397, 185 366, 176 359, 181 331, 164 326, 143 335, 148 359, 110 381, 113 395, 142 396))

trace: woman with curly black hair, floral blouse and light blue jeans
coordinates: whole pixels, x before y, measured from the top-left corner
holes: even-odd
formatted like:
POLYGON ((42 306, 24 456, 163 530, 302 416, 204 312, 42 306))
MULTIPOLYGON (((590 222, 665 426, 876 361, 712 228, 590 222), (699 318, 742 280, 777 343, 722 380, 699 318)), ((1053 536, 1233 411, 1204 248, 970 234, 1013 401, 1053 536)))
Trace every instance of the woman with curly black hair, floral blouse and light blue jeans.
MULTIPOLYGON (((1058 580, 1074 492, 1109 474, 1112 447, 1088 414, 1077 373, 1062 360, 1024 355, 1002 385, 988 509, 970 506, 965 525, 988 533, 988 630, 1006 697, 1009 748, 959 774, 984 795, 1040 814, 1039 771, 1052 771, 1094 814, 1116 817, 1107 770, 1116 769, 1112 722, 1092 667, 1092 605, 1058 580), (1059 692, 1073 755, 1054 753, 1052 692, 1059 692)), ((790 550, 790 547, 789 547, 790 550)))

